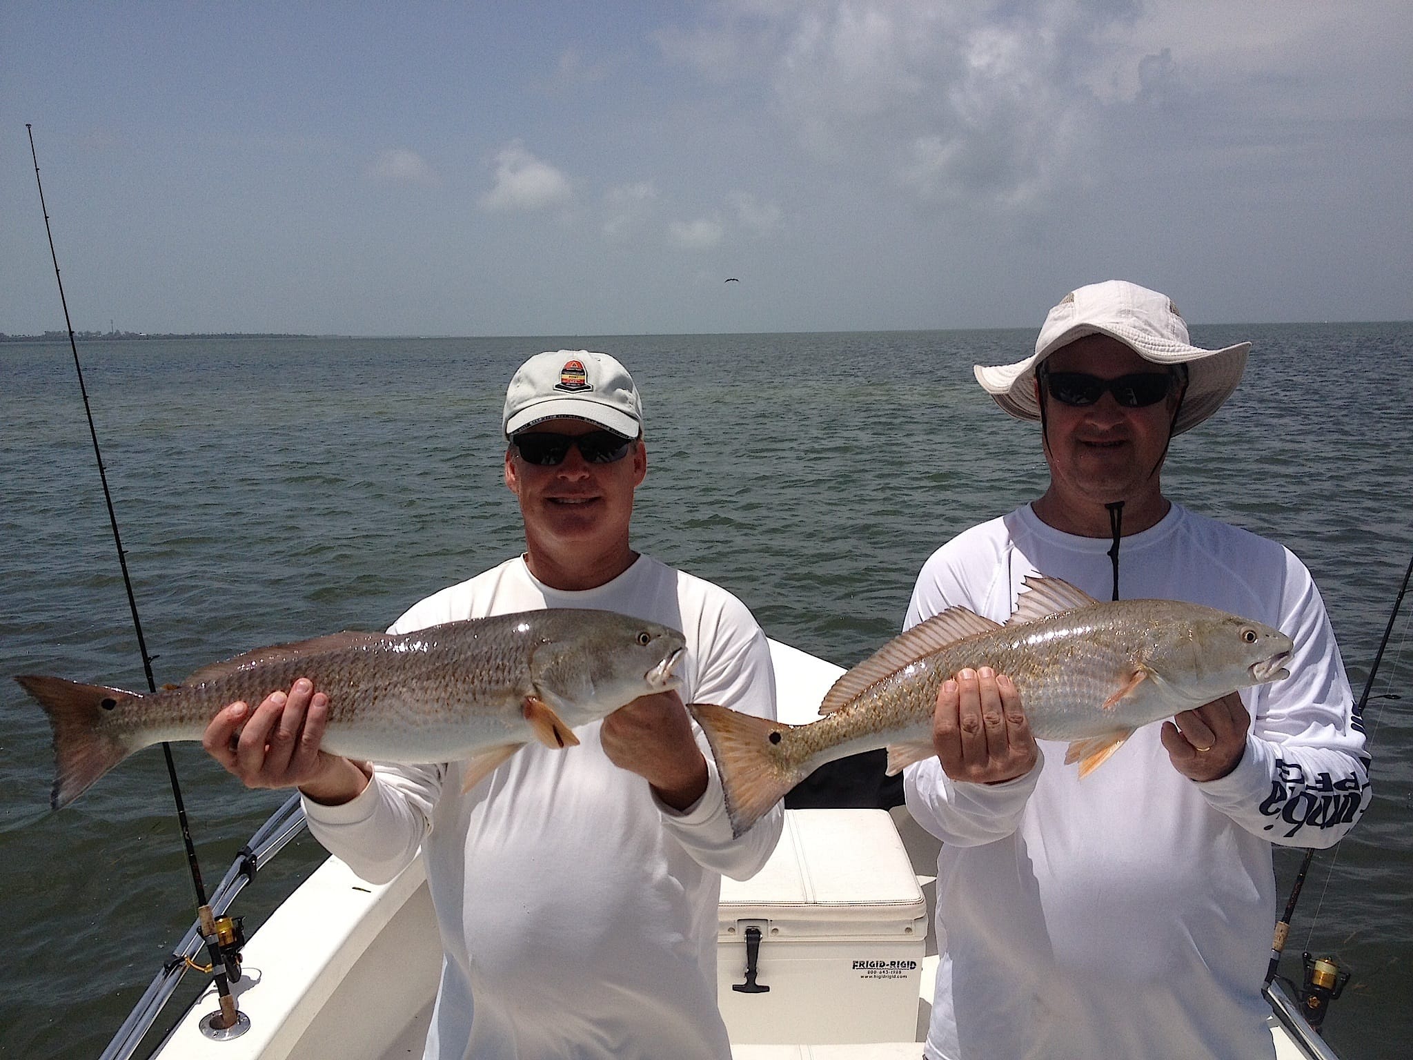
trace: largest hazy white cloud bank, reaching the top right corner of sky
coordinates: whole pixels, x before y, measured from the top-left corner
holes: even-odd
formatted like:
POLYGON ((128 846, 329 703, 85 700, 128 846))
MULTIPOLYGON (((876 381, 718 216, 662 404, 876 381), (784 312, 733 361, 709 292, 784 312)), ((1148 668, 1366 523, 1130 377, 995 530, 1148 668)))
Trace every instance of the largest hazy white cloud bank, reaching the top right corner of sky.
POLYGON ((721 0, 654 40, 861 187, 1037 216, 1143 151, 1219 168, 1313 120, 1405 120, 1403 4, 721 0))

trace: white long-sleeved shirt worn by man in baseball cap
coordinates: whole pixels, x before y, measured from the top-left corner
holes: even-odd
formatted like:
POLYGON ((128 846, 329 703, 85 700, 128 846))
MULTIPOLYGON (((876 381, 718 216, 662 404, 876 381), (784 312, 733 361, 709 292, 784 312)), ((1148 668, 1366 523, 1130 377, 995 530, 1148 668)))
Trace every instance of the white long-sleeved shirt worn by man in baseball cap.
MULTIPOLYGON (((680 629, 684 702, 774 718, 764 633, 740 601, 646 555, 585 592, 514 558, 428 596, 390 632, 540 608, 602 608, 680 629)), ((309 830, 365 879, 421 848, 444 947, 424 1057, 726 1060, 716 1008, 721 875, 755 875, 780 838, 776 807, 732 840, 721 780, 678 814, 615 766, 602 722, 579 746, 527 743, 462 794, 462 763, 379 763, 350 803, 304 800, 309 830)), ((389 970, 396 974, 394 970, 389 970)))

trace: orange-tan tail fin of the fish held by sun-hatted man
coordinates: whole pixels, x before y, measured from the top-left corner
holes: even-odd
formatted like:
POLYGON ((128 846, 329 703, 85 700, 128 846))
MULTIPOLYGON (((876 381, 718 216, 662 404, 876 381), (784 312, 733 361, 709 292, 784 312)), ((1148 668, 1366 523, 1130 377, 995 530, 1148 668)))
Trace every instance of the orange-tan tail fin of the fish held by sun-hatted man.
POLYGON ((779 752, 780 738, 794 725, 709 702, 694 702, 687 709, 706 734, 736 837, 810 775, 810 769, 791 766, 779 752))

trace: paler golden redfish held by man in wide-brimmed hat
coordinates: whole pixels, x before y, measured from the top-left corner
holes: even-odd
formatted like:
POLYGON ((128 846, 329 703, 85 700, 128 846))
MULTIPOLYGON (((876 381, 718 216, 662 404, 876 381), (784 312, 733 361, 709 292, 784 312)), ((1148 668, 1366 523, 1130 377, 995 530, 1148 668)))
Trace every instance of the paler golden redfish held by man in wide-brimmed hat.
POLYGON ((889 749, 889 775, 934 755, 941 684, 965 667, 1009 676, 1037 739, 1068 741, 1080 776, 1140 725, 1289 677, 1279 629, 1177 601, 1101 603, 1058 578, 1027 578, 1005 625, 950 608, 845 673, 808 725, 692 704, 738 835, 825 762, 889 749))

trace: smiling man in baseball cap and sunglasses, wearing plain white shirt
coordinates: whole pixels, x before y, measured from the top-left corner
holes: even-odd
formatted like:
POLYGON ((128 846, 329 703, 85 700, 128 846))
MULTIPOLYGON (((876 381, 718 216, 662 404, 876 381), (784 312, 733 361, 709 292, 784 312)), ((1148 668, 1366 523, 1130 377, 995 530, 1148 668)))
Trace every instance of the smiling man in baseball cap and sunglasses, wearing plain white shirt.
POLYGON ((502 425, 524 554, 428 596, 390 632, 538 608, 616 611, 682 630, 681 693, 581 726, 568 750, 527 745, 465 793, 463 763, 370 767, 304 750, 326 711, 308 681, 243 728, 233 704, 206 748, 247 784, 298 784, 309 830, 366 879, 391 879, 421 849, 444 947, 424 1057, 728 1060, 721 875, 745 879, 766 862, 783 811, 732 838, 682 701, 773 718, 764 633, 725 589, 632 550, 647 451, 637 387, 617 360, 530 358, 502 425), (294 738, 301 725, 307 741, 294 738), (274 739, 281 728, 290 739, 274 739))

